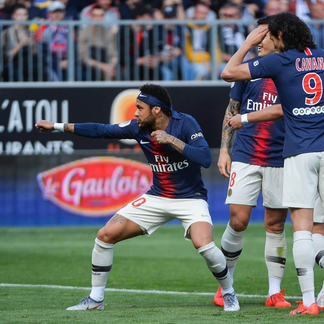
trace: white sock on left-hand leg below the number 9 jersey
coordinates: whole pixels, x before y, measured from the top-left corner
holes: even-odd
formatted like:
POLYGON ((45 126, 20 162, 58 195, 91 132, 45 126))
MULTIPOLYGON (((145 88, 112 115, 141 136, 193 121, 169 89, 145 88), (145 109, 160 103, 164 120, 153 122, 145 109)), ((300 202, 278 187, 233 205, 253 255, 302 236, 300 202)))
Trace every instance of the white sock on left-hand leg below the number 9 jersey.
POLYGON ((303 293, 303 304, 308 307, 315 303, 314 294, 314 246, 312 233, 296 231, 294 233, 293 256, 300 289, 303 293))

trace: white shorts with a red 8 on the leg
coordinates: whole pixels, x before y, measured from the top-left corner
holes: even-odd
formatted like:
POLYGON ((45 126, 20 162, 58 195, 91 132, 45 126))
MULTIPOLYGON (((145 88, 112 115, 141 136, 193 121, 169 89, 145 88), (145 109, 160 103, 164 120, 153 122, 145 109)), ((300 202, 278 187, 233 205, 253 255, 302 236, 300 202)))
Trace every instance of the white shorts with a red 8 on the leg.
POLYGON ((256 206, 262 189, 263 206, 286 208, 282 203, 284 168, 232 162, 226 204, 256 206))

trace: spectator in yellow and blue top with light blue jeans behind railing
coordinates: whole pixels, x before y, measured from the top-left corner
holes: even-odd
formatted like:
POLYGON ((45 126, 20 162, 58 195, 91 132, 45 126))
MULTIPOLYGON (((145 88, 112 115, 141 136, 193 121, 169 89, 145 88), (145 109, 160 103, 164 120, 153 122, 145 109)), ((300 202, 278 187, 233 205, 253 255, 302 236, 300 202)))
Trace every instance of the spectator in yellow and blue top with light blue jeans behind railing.
MULTIPOLYGON (((209 7, 199 2, 195 6, 194 19, 206 20, 209 7)), ((187 26, 185 34, 186 58, 189 68, 186 71, 186 80, 208 79, 211 72, 210 56, 210 27, 208 25, 196 25, 191 23, 187 26)))

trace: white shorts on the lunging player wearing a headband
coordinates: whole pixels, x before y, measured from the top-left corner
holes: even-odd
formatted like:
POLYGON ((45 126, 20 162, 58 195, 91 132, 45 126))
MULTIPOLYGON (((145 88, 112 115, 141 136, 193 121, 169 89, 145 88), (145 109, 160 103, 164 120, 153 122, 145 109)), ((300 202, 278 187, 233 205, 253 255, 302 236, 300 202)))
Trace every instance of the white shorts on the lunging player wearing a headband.
POLYGON ((151 235, 172 219, 179 219, 185 230, 185 239, 190 240, 191 224, 207 222, 213 226, 208 207, 208 203, 203 199, 172 199, 143 194, 121 208, 116 214, 141 226, 145 229, 146 235, 151 235))

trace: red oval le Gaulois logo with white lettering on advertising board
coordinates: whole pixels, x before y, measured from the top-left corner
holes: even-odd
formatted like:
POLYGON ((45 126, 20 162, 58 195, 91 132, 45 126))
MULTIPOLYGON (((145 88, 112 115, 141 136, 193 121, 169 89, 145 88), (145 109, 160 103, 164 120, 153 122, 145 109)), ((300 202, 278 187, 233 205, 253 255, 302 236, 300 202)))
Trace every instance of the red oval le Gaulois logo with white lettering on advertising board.
POLYGON ((92 157, 37 175, 44 199, 70 212, 109 215, 152 185, 147 164, 115 157, 92 157))

